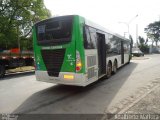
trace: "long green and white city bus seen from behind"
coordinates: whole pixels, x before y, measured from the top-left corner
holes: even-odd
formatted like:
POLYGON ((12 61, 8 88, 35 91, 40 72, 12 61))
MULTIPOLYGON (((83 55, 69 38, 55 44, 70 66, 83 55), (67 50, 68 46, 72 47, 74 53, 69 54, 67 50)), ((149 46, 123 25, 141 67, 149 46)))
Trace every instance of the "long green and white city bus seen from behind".
POLYGON ((130 62, 130 40, 79 15, 33 26, 36 79, 87 86, 130 62))

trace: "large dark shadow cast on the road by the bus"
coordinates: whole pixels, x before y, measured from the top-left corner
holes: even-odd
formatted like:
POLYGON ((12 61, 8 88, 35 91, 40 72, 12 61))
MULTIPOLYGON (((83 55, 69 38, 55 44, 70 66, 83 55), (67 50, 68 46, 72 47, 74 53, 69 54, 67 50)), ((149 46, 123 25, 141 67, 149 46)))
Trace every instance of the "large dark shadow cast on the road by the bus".
POLYGON ((87 87, 56 85, 43 89, 30 96, 13 113, 104 112, 136 66, 137 63, 131 62, 111 78, 100 79, 87 87))

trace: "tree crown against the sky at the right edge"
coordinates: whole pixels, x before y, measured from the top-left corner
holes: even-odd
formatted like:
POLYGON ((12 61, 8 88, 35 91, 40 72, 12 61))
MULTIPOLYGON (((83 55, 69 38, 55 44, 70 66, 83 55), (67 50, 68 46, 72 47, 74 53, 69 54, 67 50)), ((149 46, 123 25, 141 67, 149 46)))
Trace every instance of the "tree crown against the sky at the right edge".
POLYGON ((147 28, 145 28, 145 32, 147 33, 148 38, 150 38, 153 42, 156 42, 157 46, 160 41, 160 21, 150 23, 147 28))

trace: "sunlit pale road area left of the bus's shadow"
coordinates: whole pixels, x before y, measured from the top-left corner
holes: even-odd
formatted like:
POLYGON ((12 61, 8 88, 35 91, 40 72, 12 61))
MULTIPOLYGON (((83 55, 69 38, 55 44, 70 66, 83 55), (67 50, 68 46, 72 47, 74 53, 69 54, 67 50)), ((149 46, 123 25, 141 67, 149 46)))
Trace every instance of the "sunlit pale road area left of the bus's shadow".
POLYGON ((0 113, 12 113, 32 94, 54 85, 36 81, 34 72, 7 75, 0 80, 0 113))

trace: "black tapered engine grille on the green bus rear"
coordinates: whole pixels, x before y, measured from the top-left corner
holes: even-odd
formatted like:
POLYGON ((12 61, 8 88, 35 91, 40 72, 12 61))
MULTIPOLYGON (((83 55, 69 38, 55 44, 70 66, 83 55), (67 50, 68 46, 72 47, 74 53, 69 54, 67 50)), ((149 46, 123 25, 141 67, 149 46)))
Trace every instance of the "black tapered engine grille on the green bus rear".
POLYGON ((41 53, 48 75, 58 77, 63 64, 65 49, 41 50, 41 53))

